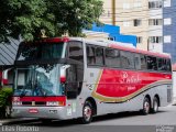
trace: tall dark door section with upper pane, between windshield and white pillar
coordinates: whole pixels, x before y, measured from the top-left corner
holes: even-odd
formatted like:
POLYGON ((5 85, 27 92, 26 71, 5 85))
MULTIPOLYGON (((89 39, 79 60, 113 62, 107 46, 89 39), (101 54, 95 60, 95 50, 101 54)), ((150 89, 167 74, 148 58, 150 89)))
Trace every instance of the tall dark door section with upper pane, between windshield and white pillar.
POLYGON ((82 42, 70 41, 67 45, 67 58, 69 68, 66 70, 66 94, 67 99, 76 99, 80 94, 84 80, 84 48, 82 42))

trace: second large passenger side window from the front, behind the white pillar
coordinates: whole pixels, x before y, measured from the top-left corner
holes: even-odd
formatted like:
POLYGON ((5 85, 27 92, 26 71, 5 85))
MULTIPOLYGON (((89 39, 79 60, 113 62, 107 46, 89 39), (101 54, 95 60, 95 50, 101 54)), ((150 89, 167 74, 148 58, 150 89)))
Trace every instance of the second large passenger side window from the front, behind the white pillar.
POLYGON ((110 67, 120 67, 120 52, 118 50, 106 50, 106 65, 110 67))

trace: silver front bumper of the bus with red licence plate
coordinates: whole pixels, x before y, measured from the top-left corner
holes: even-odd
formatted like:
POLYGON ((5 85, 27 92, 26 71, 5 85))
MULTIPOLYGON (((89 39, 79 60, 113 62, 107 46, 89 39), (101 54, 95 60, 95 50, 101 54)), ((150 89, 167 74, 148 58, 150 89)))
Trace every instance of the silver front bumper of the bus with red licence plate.
POLYGON ((13 107, 13 118, 67 119, 65 107, 13 107))

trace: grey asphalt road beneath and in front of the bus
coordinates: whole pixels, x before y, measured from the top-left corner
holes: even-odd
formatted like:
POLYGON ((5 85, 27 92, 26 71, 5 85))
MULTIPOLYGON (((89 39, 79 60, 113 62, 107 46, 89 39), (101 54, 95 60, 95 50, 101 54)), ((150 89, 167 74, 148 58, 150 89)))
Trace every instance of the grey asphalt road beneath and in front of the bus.
POLYGON ((29 121, 2 125, 0 131, 38 132, 176 132, 176 106, 160 108, 156 114, 142 116, 140 112, 122 112, 94 118, 90 124, 80 124, 78 120, 29 121))

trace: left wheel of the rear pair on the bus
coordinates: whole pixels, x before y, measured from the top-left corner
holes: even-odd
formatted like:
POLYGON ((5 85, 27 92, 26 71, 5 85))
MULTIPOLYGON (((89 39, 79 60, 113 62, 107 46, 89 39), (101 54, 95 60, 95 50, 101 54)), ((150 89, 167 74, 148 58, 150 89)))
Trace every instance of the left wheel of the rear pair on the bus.
POLYGON ((144 116, 150 113, 150 109, 151 109, 151 102, 150 102, 150 99, 147 97, 144 98, 144 101, 143 101, 143 109, 142 109, 142 113, 144 116))

